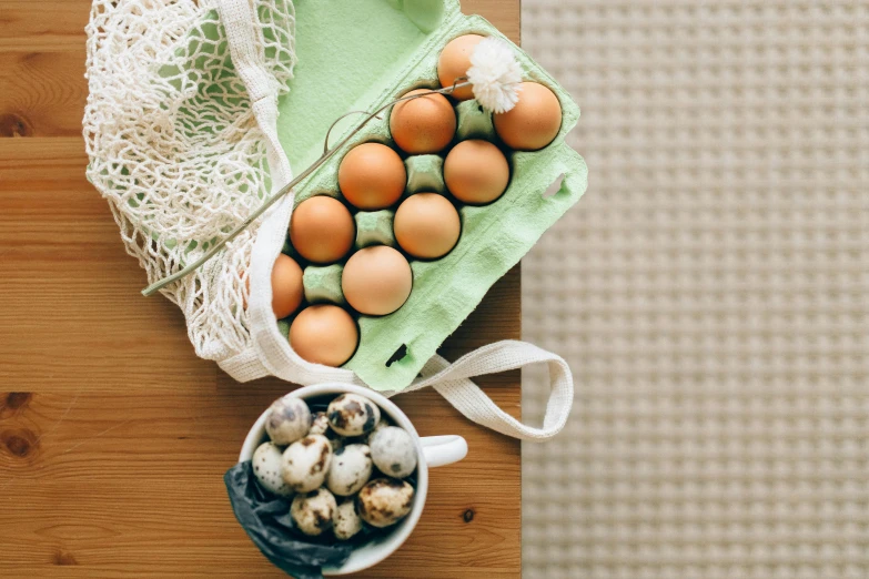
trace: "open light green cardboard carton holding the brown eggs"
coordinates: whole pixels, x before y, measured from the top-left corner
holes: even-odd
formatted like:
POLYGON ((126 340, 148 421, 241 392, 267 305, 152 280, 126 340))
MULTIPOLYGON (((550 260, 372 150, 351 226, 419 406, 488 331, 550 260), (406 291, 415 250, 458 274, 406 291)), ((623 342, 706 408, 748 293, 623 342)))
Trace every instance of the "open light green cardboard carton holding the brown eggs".
MULTIPOLYGON (((477 33, 509 42, 483 18, 462 14, 457 0, 296 0, 295 12, 299 63, 290 92, 279 103, 277 124, 281 143, 295 172, 320 156, 326 130, 341 115, 375 110, 412 89, 439 87, 437 59, 454 38, 477 33)), ((579 118, 579 108, 522 49, 513 43, 511 47, 524 80, 545 84, 558 96, 562 130, 540 151, 508 154, 507 191, 489 205, 461 207, 463 233, 449 254, 436 261, 411 261, 413 292, 398 311, 382 317, 360 316, 360 346, 345 367, 377 390, 408 386, 488 288, 585 192, 585 162, 564 141, 579 118), (558 191, 544 196, 559 180, 558 191), (402 352, 403 356, 396 356, 402 352)), ((457 115, 457 140, 493 139, 491 115, 481 111, 475 101, 459 104, 457 115)), ((346 136, 358 120, 350 116, 342 121, 333 131, 332 142, 346 136)), ((296 204, 316 194, 340 196, 337 169, 342 158, 353 146, 371 141, 395 148, 390 139, 388 112, 368 123, 302 182, 296 189, 296 204)), ((437 165, 433 159, 407 161, 415 173, 408 177, 405 194, 420 191, 421 182, 445 193, 438 185, 443 183, 441 175, 432 175, 432 163, 437 165)), ((382 233, 371 215, 356 219, 365 224, 367 234, 382 233)), ((310 285, 321 292, 317 299, 335 299, 331 295, 335 293, 334 272, 306 271, 306 291, 309 276, 310 285), (314 274, 321 277, 314 280, 314 274)))

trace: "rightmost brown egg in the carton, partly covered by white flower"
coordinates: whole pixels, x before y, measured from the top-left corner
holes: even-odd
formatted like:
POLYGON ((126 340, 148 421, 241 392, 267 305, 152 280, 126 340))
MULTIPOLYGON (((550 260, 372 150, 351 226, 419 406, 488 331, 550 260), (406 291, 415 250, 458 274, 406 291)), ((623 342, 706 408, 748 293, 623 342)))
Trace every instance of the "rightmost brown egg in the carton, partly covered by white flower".
POLYGON ((512 110, 495 114, 495 132, 501 140, 517 151, 537 151, 562 130, 562 104, 547 87, 523 82, 519 102, 512 110))

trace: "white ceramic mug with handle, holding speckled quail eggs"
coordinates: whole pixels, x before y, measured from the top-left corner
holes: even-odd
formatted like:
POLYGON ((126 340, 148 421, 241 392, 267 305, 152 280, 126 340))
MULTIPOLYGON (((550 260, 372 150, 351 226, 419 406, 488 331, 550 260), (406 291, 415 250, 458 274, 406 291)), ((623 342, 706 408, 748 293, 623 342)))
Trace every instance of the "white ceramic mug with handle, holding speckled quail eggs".
MULTIPOLYGON (((340 395, 344 393, 358 394, 365 396, 371 402, 381 407, 381 410, 395 423, 407 430, 416 445, 416 454, 421 457, 416 466, 416 491, 414 492, 413 507, 411 512, 397 525, 390 527, 387 534, 373 539, 371 542, 353 550, 350 558, 341 567, 324 567, 323 575, 347 575, 377 565, 386 557, 395 552, 398 547, 411 536, 414 527, 420 521, 423 514, 423 505, 428 494, 428 468, 449 465, 462 460, 467 455, 467 441, 457 435, 447 436, 426 436, 421 438, 413 427, 413 423, 395 404, 374 390, 352 386, 350 384, 317 384, 305 386, 290 394, 302 399, 317 398, 320 396, 340 395)), ((244 439, 239 461, 251 460, 256 447, 267 440, 265 434, 265 420, 269 415, 266 409, 260 418, 256 419, 247 437, 244 439)))

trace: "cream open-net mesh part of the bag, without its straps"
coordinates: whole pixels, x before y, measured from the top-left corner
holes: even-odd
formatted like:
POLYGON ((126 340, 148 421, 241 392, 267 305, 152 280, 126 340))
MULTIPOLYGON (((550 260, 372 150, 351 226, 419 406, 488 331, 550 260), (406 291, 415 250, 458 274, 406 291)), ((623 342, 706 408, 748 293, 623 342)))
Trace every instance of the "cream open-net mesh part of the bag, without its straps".
MULTIPOLYGON (((94 0, 87 27, 88 179, 149 282, 195 261, 260 206, 270 192, 269 161, 277 164, 256 115, 274 108, 292 78, 293 6, 251 0, 226 28, 218 3, 94 0), (226 40, 254 26, 251 51, 270 82, 251 99, 226 40)), ((162 292, 183 311, 203 358, 223 360, 250 347, 243 304, 257 225, 162 292)))

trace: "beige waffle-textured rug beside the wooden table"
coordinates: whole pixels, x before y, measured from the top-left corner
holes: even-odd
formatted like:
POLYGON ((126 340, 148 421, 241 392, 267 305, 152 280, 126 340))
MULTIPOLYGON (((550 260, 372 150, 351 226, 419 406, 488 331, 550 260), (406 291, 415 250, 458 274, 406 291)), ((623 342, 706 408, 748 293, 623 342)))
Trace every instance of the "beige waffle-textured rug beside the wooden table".
POLYGON ((869 3, 523 6, 589 166, 524 262, 577 386, 525 578, 868 578, 869 3))

